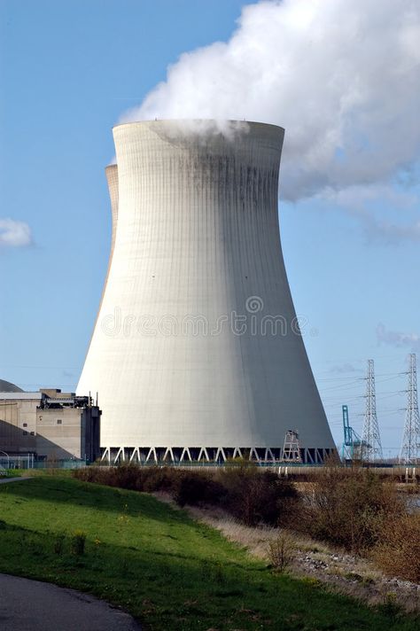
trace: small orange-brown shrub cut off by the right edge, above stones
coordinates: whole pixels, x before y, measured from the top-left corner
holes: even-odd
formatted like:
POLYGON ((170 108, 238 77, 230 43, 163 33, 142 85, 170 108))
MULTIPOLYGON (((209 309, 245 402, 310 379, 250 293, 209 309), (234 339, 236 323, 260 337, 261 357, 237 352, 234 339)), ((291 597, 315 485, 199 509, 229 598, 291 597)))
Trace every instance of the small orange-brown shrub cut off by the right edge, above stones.
POLYGON ((372 558, 385 573, 420 582, 420 513, 386 521, 372 558))

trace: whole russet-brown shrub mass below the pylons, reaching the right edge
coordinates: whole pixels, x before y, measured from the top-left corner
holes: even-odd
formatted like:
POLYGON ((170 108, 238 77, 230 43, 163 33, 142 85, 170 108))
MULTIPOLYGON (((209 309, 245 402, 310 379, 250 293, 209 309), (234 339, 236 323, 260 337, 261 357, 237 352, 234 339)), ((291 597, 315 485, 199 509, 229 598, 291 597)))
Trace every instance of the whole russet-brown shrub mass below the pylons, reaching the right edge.
POLYGON ((369 469, 325 467, 293 526, 315 539, 372 558, 393 576, 420 582, 420 514, 397 487, 369 469))

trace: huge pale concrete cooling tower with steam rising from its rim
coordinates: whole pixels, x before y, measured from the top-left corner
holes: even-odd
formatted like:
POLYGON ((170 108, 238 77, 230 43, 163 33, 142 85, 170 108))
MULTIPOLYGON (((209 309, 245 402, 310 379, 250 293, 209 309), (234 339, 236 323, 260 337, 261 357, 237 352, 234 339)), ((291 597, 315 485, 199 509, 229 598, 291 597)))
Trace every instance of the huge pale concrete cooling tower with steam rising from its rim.
POLYGON ((284 129, 231 121, 113 129, 113 238, 78 392, 112 461, 283 457, 334 443, 299 331, 277 218, 284 129))

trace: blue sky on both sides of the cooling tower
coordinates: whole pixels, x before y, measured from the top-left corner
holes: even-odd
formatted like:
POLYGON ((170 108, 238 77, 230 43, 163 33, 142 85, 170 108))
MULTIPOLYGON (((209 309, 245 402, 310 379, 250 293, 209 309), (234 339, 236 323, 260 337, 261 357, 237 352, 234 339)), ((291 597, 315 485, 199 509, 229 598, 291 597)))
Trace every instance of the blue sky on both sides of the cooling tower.
MULTIPOLYGON (((1 378, 75 388, 108 259, 113 124, 184 51, 228 42, 244 4, 0 2, 0 222, 32 233, 27 246, 0 241, 1 378)), ((385 456, 401 440, 407 354, 420 351, 417 174, 411 164, 369 183, 369 194, 359 186, 280 202, 286 269, 331 429, 340 441, 348 403, 361 431, 373 358, 385 456)))

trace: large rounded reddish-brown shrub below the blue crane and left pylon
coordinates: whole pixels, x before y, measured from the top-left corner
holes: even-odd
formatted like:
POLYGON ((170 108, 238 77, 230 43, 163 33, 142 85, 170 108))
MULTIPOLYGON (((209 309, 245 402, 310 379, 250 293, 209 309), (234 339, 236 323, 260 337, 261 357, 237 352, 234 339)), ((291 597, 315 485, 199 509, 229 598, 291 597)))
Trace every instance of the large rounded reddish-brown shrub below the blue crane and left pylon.
POLYGON ((369 470, 336 466, 319 471, 294 526, 352 552, 371 549, 386 521, 401 514, 395 487, 369 470))

